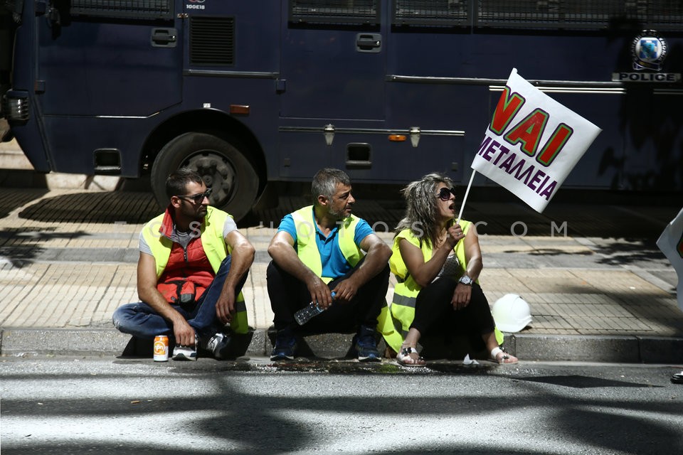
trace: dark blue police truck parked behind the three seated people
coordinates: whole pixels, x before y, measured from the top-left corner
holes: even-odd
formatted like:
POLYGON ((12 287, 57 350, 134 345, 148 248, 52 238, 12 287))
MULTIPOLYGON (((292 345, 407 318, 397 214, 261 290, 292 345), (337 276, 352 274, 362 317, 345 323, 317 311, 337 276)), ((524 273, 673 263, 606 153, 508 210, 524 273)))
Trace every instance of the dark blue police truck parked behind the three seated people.
MULTIPOLYGON (((195 168, 240 218, 323 166, 467 183, 512 68, 603 132, 564 186, 683 188, 665 0, 4 0, 1 116, 37 171, 195 168)), ((476 185, 492 185, 477 176, 476 185)))

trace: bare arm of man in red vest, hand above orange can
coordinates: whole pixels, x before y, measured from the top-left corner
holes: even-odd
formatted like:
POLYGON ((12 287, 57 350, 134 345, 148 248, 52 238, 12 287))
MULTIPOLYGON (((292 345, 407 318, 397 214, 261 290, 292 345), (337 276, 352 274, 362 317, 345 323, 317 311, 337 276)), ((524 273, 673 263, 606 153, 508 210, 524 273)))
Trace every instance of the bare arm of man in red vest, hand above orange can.
POLYGON ((137 262, 137 294, 141 301, 171 323, 177 344, 194 346, 194 328, 157 290, 157 262, 154 256, 142 252, 137 262))

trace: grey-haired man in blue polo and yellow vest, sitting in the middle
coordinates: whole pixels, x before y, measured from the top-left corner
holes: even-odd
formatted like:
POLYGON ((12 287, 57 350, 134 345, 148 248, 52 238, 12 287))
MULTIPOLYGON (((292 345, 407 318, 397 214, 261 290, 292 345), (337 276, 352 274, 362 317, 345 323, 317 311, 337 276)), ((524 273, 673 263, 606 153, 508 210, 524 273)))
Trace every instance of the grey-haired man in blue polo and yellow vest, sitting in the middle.
POLYGON ((391 248, 365 220, 351 215, 356 200, 346 173, 318 171, 311 193, 313 205, 282 218, 268 246, 272 262, 266 277, 277 331, 270 360, 294 359, 301 328, 356 332, 359 360, 379 361, 375 327, 388 288, 391 248), (294 314, 311 301, 327 311, 300 327, 294 314))

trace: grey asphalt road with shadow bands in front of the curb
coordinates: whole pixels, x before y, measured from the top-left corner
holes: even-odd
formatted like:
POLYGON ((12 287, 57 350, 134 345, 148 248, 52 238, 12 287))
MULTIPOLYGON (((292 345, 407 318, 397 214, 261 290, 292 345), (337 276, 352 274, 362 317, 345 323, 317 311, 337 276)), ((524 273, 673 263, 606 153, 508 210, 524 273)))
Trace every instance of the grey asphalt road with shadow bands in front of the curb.
POLYGON ((663 365, 3 358, 2 454, 679 454, 663 365))

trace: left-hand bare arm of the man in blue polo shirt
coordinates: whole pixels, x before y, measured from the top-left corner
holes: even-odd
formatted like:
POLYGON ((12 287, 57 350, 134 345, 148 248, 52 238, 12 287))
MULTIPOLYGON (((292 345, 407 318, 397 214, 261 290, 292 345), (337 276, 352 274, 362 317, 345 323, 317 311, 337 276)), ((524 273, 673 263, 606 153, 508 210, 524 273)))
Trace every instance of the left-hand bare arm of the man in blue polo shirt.
POLYGON ((289 233, 278 231, 270 240, 268 254, 275 261, 275 264, 285 270, 285 272, 306 284, 311 294, 311 301, 317 301, 323 308, 327 308, 332 304, 332 293, 329 291, 327 284, 317 274, 314 274, 309 267, 306 267, 306 264, 301 262, 294 249, 294 238, 289 233))

